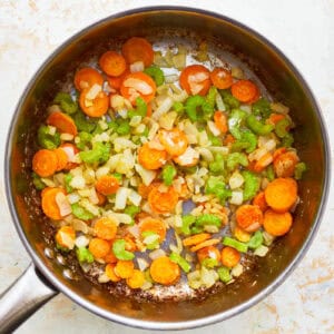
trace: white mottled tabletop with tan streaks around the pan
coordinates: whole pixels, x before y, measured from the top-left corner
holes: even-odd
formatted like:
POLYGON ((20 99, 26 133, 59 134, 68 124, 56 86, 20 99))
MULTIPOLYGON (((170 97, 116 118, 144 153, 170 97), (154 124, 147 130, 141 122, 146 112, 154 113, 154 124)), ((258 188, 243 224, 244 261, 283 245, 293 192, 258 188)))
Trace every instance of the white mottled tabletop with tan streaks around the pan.
MULTIPOLYGON (((314 90, 334 140, 334 1, 330 0, 48 0, 0 1, 0 160, 14 106, 46 57, 81 28, 111 13, 148 4, 184 4, 214 10, 256 29, 298 67, 314 90)), ((333 154, 333 151, 332 151, 333 154)), ((332 159, 332 167, 333 167, 332 159)), ((0 165, 0 291, 30 262, 13 228, 0 165)), ((271 296, 226 322, 191 333, 333 333, 334 198, 311 249, 271 296)), ((58 295, 17 333, 141 334, 101 320, 58 295)), ((190 332, 190 331, 189 331, 190 332)))

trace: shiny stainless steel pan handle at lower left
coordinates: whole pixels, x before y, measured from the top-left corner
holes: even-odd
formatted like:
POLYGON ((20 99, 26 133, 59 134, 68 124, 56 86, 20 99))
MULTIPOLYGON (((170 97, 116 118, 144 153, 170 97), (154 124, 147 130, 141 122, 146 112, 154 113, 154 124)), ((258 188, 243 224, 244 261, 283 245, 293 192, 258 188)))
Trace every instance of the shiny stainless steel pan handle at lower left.
POLYGON ((12 333, 59 292, 30 264, 0 295, 0 333, 12 333))

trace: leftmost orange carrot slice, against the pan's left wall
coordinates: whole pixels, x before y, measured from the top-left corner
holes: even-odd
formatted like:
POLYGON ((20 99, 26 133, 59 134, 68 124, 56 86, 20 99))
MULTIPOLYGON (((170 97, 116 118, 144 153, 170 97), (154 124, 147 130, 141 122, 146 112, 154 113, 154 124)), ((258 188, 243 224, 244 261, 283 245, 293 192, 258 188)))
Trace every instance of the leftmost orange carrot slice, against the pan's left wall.
POLYGON ((58 167, 58 158, 50 149, 38 150, 32 158, 32 170, 40 177, 52 176, 58 167))

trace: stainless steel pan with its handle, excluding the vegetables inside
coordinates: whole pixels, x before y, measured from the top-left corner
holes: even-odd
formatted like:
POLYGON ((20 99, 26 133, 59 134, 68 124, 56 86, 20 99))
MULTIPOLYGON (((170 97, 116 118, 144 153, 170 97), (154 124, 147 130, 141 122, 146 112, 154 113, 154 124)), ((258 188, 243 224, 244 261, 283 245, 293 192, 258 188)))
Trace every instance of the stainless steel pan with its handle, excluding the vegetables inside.
MULTIPOLYGON (((317 230, 330 184, 330 149, 321 110, 305 80, 287 58, 252 29, 217 13, 179 7, 143 8, 111 16, 58 48, 35 75, 13 115, 4 160, 7 197, 19 236, 32 258, 27 272, 2 294, 0 332, 10 332, 43 303, 62 292, 95 314, 134 327, 181 330, 226 320, 273 292, 305 255, 317 230), (31 138, 43 108, 66 73, 84 55, 130 36, 153 40, 205 39, 246 63, 269 94, 292 109, 295 146, 307 173, 299 184, 302 203, 293 230, 235 284, 204 299, 137 303, 112 297, 84 277, 69 279, 62 261, 45 252, 48 243, 38 203, 29 197, 31 138), (33 286, 33 288, 31 288, 33 286)), ((79 275, 79 273, 77 273, 79 275)))

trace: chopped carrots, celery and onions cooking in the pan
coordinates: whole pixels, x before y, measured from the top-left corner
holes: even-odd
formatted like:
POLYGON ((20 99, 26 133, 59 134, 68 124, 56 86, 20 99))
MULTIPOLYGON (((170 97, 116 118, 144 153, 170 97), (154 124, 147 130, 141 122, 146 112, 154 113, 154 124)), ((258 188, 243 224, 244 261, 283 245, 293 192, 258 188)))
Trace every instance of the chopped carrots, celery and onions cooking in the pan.
POLYGON ((132 37, 100 55, 38 129, 32 179, 57 248, 100 283, 229 284, 293 226, 306 166, 288 108, 240 68, 209 68, 205 43, 193 62, 174 51, 132 37))

